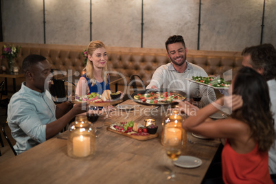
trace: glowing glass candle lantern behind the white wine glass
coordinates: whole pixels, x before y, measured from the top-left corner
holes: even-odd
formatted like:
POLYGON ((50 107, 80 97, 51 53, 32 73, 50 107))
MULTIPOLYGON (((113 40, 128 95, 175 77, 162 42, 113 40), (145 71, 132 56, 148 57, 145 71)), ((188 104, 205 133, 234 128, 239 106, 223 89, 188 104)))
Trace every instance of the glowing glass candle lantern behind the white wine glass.
POLYGON ((164 146, 168 139, 177 138, 181 140, 182 146, 187 143, 187 132, 182 128, 185 117, 180 115, 179 109, 174 109, 169 115, 165 116, 162 122, 161 143, 164 146))

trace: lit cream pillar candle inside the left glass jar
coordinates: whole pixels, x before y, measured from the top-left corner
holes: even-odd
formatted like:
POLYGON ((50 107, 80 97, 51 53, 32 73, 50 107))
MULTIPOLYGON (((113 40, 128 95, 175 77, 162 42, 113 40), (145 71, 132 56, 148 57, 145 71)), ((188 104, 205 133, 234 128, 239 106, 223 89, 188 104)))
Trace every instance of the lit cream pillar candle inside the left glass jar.
POLYGON ((76 157, 87 157, 91 152, 90 137, 73 137, 73 155, 76 157))

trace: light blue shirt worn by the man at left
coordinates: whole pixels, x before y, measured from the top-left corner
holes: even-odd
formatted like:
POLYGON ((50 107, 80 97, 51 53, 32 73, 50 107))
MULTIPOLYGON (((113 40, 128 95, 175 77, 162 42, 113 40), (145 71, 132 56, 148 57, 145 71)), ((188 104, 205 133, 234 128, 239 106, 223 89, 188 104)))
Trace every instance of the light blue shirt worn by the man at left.
POLYGON ((7 122, 19 154, 46 141, 46 124, 56 120, 56 105, 49 91, 39 93, 22 83, 8 105, 7 122))

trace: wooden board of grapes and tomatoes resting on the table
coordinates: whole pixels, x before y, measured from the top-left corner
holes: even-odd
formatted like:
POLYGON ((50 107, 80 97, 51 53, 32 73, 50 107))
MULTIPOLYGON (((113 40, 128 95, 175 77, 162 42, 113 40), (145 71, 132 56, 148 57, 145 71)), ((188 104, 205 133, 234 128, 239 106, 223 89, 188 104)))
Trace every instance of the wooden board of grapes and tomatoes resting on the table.
POLYGON ((132 139, 137 139, 139 141, 146 141, 149 139, 154 139, 159 136, 159 133, 157 133, 157 128, 158 128, 157 126, 146 127, 143 124, 130 121, 130 122, 119 122, 116 124, 111 124, 106 129, 113 133, 124 135, 132 139))

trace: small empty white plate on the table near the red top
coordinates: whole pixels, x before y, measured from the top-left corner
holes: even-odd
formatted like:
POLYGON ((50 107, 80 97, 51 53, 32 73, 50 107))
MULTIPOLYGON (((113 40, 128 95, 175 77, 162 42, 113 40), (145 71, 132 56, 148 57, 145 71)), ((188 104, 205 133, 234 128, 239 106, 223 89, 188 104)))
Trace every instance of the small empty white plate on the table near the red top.
POLYGON ((174 161, 174 165, 179 166, 181 168, 197 168, 203 163, 197 157, 192 156, 180 156, 179 159, 174 161))

